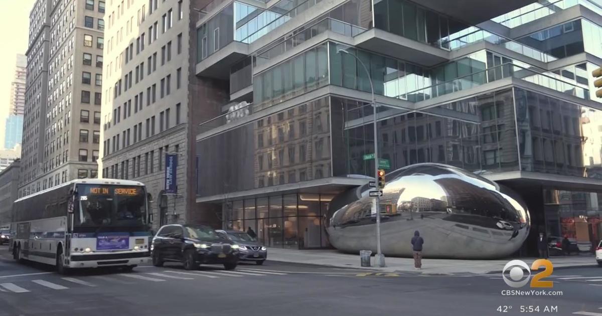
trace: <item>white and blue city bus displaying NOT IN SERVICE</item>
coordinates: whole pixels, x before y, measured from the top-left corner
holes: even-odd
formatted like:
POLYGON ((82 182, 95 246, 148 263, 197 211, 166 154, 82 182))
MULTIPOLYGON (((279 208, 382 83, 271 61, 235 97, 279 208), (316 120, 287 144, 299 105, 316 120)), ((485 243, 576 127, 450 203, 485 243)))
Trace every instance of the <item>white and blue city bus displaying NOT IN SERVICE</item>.
POLYGON ((19 262, 71 268, 122 267, 150 260, 151 194, 144 184, 77 179, 16 200, 9 251, 19 262))

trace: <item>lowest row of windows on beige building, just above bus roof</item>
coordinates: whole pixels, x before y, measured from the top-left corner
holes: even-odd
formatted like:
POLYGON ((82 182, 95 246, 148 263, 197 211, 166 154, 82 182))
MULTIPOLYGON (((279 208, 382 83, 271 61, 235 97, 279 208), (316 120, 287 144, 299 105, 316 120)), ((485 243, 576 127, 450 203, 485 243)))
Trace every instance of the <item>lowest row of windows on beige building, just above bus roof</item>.
MULTIPOLYGON (((173 147, 175 152, 179 152, 179 145, 176 144, 173 147)), ((131 159, 126 159, 121 163, 116 163, 111 165, 110 167, 105 167, 102 169, 102 177, 103 178, 113 178, 113 179, 129 179, 138 178, 140 176, 146 176, 158 171, 163 170, 164 164, 164 155, 169 152, 169 145, 161 146, 156 151, 158 153, 157 157, 155 157, 155 150, 151 150, 149 152, 144 153, 143 155, 134 156, 131 159), (155 168, 155 158, 157 158, 157 168, 155 168), (143 165, 144 160, 144 167, 143 165), (130 169, 130 161, 131 161, 131 169, 130 169)))

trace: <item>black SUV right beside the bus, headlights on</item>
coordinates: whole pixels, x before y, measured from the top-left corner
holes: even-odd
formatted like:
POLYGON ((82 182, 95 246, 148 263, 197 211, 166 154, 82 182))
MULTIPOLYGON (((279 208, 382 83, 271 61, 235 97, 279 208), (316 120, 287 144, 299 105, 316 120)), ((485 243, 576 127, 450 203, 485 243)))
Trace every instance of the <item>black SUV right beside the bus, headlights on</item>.
POLYGON ((152 263, 161 267, 166 261, 182 262, 186 270, 196 270, 199 264, 223 264, 226 270, 233 270, 238 249, 207 226, 165 225, 152 240, 152 263))

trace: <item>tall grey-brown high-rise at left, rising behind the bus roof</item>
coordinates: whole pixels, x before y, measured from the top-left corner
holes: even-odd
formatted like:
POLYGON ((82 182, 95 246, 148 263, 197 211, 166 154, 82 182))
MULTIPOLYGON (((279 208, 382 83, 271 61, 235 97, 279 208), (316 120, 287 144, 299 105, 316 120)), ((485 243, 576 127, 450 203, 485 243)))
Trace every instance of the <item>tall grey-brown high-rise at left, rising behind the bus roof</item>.
POLYGON ((34 4, 19 196, 96 177, 104 10, 100 0, 34 4))

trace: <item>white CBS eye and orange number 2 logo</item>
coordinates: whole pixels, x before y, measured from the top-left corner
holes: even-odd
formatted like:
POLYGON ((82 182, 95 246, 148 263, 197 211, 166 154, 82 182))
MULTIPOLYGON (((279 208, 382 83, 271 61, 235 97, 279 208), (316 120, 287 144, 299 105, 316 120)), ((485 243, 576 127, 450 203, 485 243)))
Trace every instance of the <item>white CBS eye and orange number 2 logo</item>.
POLYGON ((524 287, 527 283, 529 283, 529 276, 531 276, 531 270, 537 271, 539 267, 544 267, 545 270, 541 271, 531 278, 530 287, 532 288, 551 288, 554 287, 554 282, 552 281, 542 281, 544 277, 551 276, 552 271, 554 271, 554 266, 552 262, 548 259, 537 259, 533 261, 531 268, 522 260, 511 260, 506 265, 504 265, 504 270, 501 271, 501 276, 504 279, 504 282, 509 287, 520 288, 524 287), (506 270, 510 270, 508 276, 504 274, 506 270), (527 270, 528 275, 525 277, 524 270, 527 270))

